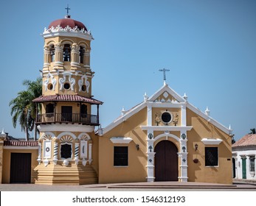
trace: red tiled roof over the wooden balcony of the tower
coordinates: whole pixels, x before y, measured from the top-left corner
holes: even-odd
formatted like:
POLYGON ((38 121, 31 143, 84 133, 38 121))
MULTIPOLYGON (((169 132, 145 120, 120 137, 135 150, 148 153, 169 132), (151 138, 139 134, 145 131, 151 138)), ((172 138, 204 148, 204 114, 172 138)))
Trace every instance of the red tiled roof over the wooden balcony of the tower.
POLYGON ((77 94, 55 94, 49 96, 39 96, 33 102, 86 102, 89 104, 103 104, 97 99, 80 96, 77 94))

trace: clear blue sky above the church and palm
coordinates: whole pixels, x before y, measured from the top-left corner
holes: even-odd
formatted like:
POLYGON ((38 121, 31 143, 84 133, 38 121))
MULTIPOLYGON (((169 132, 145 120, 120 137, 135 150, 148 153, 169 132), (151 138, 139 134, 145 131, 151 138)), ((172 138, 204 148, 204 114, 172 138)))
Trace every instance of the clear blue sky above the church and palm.
POLYGON ((11 99, 43 68, 44 27, 66 14, 91 30, 92 90, 103 127, 167 83, 238 140, 256 127, 256 1, 129 0, 1 3, 0 127, 14 137, 11 99))

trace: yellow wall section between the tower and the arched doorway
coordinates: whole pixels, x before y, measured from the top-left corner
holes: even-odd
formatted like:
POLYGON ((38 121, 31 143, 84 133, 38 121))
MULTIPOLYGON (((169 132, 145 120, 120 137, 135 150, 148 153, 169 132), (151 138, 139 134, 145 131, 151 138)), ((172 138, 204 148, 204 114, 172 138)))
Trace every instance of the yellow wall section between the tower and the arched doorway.
POLYGON ((128 118, 116 128, 100 137, 99 143, 99 183, 106 182, 145 182, 147 177, 147 135, 140 129, 146 124, 147 110, 143 109, 136 115, 128 118), (130 137, 133 139, 128 144, 115 144, 110 141, 112 137, 130 137), (136 149, 139 144, 139 150, 136 149), (114 166, 114 146, 128 146, 128 166, 114 166))

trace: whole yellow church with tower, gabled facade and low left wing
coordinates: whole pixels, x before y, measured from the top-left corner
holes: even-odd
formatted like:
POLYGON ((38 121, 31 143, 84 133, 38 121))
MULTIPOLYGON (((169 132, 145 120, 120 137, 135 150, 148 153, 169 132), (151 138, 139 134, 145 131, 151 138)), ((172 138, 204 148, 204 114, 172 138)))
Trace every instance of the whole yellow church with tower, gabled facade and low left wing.
POLYGON ((67 14, 42 36, 42 96, 33 100, 40 138, 8 141, 1 133, 2 183, 232 184, 232 129, 210 117, 208 108, 198 110, 164 81, 103 128, 103 102, 93 96, 91 32, 67 14))

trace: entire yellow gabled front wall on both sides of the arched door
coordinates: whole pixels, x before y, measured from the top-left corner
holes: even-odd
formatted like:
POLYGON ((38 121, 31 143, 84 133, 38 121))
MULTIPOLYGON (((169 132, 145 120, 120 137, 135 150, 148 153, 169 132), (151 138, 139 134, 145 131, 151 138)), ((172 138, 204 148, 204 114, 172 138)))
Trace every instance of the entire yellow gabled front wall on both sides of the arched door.
MULTIPOLYGON (((153 113, 165 111, 163 108, 153 108, 153 113)), ((168 109, 169 110, 169 109, 168 109)), ((170 111, 179 113, 179 109, 170 109, 170 111)), ((100 137, 99 143, 99 182, 143 182, 146 181, 147 174, 147 148, 145 131, 140 128, 141 125, 147 123, 147 109, 141 110, 128 120, 111 129, 103 137, 100 137), (131 137, 133 141, 129 144, 114 144, 110 141, 112 137, 131 137), (139 151, 136 150, 136 144, 139 144, 139 151), (114 167, 114 146, 128 146, 128 166, 114 167)), ((211 123, 201 118, 193 111, 187 109, 187 126, 193 126, 191 131, 187 132, 187 176, 191 182, 216 182, 224 184, 232 184, 232 152, 231 138, 211 123), (203 138, 220 138, 223 140, 218 146, 218 166, 206 167, 204 162, 204 148, 206 145, 202 143, 203 138), (198 144, 198 150, 195 151, 195 144, 198 144), (194 159, 198 159, 198 163, 194 163, 194 159)), ((162 131, 153 132, 154 138, 163 134, 162 131)), ((170 132, 176 137, 180 137, 179 131, 170 132)), ((154 142, 156 146, 160 138, 154 142)), ((180 152, 180 143, 174 138, 167 138, 176 144, 180 152)), ((211 146, 211 145, 210 145, 211 146)), ((180 159, 180 158, 179 158, 180 159)), ((180 165, 180 160, 179 160, 180 165)), ((181 171, 179 168, 179 175, 181 171)))

